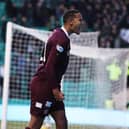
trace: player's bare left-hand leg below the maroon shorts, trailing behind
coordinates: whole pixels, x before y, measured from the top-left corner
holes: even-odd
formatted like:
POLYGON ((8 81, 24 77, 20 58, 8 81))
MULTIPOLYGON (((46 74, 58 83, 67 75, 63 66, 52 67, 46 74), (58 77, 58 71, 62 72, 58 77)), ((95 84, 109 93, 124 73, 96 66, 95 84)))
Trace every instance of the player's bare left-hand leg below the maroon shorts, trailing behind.
POLYGON ((30 122, 28 124, 28 127, 25 129, 40 129, 43 123, 43 118, 31 115, 30 122))

